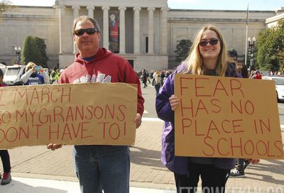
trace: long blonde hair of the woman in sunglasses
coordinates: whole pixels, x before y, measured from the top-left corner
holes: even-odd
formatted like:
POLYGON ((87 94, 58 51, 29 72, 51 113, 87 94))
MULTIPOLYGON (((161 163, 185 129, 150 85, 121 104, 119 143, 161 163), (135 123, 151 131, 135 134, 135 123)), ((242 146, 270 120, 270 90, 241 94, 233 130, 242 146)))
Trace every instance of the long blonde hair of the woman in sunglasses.
POLYGON ((227 55, 226 55, 226 45, 224 43, 224 38, 216 27, 211 24, 202 27, 197 34, 195 40, 190 48, 190 54, 185 58, 183 64, 185 64, 185 70, 182 73, 191 72, 193 75, 204 75, 204 65, 202 62, 202 56, 200 55, 199 43, 202 38, 204 31, 210 30, 217 33, 220 42, 220 53, 217 60, 216 73, 217 76, 224 77, 227 69, 227 55))

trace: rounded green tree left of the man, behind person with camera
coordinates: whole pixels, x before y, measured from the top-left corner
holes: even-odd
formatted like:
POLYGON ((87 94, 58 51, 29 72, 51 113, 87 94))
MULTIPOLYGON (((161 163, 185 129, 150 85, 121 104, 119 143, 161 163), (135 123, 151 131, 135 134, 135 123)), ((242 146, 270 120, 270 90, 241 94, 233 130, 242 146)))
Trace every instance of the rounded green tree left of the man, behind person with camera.
POLYGON ((21 55, 21 64, 27 65, 28 62, 34 62, 36 65, 48 67, 48 57, 46 56, 46 45, 42 38, 26 36, 23 40, 23 51, 21 55))

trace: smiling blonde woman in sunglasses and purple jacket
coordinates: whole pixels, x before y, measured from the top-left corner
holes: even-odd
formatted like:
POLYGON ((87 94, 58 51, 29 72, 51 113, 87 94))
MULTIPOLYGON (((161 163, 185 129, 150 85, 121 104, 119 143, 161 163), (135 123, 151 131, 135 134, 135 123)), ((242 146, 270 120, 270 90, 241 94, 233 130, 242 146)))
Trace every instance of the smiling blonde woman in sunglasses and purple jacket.
MULTIPOLYGON (((214 26, 204 26, 192 44, 190 55, 178 66, 175 73, 241 77, 229 64, 222 34, 214 26)), ((174 172, 178 192, 196 192, 201 176, 203 192, 224 192, 226 180, 235 165, 232 158, 193 158, 175 156, 174 111, 180 99, 174 95, 175 73, 165 80, 156 97, 158 117, 165 121, 162 135, 161 160, 174 172)))

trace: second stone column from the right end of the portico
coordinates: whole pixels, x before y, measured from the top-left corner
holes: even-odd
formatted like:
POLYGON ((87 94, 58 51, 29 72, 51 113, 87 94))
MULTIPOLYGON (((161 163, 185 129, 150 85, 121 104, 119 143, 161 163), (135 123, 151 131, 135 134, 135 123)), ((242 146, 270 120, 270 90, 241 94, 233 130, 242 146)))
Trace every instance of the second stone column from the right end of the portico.
POLYGON ((154 53, 154 11, 155 8, 148 8, 148 54, 154 53))

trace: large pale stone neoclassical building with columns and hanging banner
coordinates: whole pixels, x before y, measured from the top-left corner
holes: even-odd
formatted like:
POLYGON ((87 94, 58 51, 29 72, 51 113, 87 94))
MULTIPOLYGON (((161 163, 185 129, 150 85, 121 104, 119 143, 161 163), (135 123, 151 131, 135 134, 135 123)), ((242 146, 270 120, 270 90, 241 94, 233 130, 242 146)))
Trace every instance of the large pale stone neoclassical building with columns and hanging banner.
MULTIPOLYGON (((182 39, 193 40, 197 31, 212 23, 222 31, 228 48, 239 58, 246 53, 246 11, 170 9, 167 0, 58 0, 53 6, 18 6, 5 11, 0 21, 0 61, 13 64, 15 48, 27 35, 45 40, 50 68, 70 65, 77 53, 72 23, 77 16, 95 18, 101 45, 125 57, 135 70, 175 67, 175 48, 182 39)), ((249 37, 284 18, 276 11, 249 11, 249 37)))

